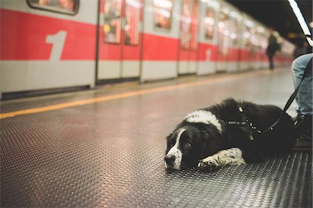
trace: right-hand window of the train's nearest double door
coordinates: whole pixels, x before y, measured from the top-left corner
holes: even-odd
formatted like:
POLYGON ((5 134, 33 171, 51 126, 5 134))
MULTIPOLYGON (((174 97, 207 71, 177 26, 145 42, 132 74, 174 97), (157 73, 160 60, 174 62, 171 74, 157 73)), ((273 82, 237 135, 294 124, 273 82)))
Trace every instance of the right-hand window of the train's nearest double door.
POLYGON ((138 24, 139 12, 141 8, 140 0, 126 0, 125 3, 125 44, 137 45, 138 44, 138 24))

